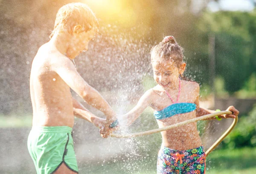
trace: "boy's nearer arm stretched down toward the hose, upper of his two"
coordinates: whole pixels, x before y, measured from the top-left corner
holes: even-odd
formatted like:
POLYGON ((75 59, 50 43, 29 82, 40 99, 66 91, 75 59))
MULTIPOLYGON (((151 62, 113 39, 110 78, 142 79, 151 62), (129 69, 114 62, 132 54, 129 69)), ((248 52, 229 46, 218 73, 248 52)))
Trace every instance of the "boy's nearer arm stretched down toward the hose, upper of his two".
POLYGON ((116 119, 116 113, 112 110, 108 102, 106 102, 97 90, 84 81, 69 58, 61 55, 55 62, 52 62, 52 70, 88 104, 101 110, 106 115, 108 124, 111 124, 116 119))

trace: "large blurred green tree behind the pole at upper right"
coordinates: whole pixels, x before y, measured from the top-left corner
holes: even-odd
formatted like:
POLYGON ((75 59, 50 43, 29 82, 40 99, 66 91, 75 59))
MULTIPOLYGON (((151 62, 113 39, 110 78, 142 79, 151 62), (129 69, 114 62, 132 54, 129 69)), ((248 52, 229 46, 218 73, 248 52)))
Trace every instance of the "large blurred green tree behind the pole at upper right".
MULTIPOLYGON (((229 93, 241 90, 250 75, 256 72, 255 17, 256 10, 250 13, 205 12, 197 23, 202 45, 202 53, 197 59, 208 65, 201 57, 208 52, 208 47, 203 45, 208 46, 209 35, 215 36, 215 73, 224 79, 225 90, 229 93)), ((202 72, 203 76, 208 76, 208 69, 202 72)))

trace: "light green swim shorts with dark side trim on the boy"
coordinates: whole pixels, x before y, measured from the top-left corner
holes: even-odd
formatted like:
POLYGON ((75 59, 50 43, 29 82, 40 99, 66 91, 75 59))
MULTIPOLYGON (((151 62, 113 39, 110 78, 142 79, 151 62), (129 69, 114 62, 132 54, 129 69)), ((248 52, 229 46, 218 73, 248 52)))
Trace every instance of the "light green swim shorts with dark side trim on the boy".
POLYGON ((37 174, 53 174, 63 163, 78 173, 71 133, 72 128, 67 126, 32 128, 28 149, 37 174))

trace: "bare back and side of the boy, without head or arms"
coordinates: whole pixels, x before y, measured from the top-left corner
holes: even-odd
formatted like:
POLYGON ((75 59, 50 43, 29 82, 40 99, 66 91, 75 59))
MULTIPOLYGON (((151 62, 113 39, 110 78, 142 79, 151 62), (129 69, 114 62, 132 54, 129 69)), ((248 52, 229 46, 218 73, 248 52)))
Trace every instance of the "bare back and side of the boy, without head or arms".
POLYGON ((30 74, 33 126, 73 127, 70 87, 52 70, 58 59, 72 63, 47 43, 41 46, 33 60, 30 74))

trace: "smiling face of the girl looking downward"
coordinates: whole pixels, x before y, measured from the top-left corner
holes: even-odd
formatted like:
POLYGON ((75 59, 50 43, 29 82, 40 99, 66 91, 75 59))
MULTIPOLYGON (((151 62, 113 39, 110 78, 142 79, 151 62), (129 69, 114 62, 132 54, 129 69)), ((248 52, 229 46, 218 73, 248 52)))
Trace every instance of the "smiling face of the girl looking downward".
POLYGON ((179 68, 172 61, 152 61, 154 80, 162 87, 176 84, 179 78, 179 68))

